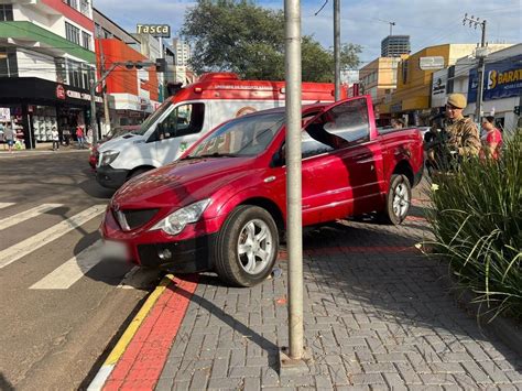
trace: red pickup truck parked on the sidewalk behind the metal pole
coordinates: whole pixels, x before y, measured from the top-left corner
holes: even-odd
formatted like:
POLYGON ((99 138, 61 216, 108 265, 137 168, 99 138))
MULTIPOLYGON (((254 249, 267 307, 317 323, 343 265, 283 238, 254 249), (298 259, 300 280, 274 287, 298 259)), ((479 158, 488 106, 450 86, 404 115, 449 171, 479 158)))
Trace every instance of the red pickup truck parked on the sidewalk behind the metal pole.
MULTIPOLYGON (((303 225, 367 213, 401 224, 424 166, 418 130, 378 130, 368 96, 306 106, 302 118, 303 225)), ((104 239, 139 265, 261 282, 285 229, 284 124, 284 108, 236 118, 129 181, 108 205, 104 239)))

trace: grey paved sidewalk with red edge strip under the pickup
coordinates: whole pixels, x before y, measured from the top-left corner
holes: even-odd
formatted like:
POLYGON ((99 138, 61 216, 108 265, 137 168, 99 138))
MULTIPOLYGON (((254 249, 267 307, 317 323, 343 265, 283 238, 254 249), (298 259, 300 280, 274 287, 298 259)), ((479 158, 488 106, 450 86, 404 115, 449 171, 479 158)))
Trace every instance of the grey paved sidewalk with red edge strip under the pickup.
POLYGON ((287 346, 282 276, 230 289, 213 274, 164 287, 104 389, 522 389, 522 359, 455 304, 447 271, 414 247, 429 235, 415 194, 401 227, 342 221, 304 237, 302 376, 279 376, 287 346))

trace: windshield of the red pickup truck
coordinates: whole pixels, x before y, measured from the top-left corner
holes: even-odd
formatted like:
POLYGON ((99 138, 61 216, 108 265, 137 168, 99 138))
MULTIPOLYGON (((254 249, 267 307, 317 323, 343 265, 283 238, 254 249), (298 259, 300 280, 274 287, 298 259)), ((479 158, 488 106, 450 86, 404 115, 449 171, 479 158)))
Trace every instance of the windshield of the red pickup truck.
POLYGON ((248 156, 263 152, 284 123, 284 111, 260 113, 225 123, 199 142, 188 159, 248 156))

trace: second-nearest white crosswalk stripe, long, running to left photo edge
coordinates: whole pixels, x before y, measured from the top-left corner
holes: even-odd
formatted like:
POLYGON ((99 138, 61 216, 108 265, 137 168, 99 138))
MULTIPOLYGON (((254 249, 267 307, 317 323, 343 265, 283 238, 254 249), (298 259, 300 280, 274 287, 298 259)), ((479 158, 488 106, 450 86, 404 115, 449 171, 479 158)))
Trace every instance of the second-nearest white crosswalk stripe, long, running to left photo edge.
POLYGON ((106 205, 91 206, 90 208, 87 208, 70 218, 56 224, 55 226, 33 236, 32 238, 22 240, 21 242, 0 251, 0 269, 6 268, 8 264, 18 261, 26 254, 80 227, 96 216, 102 214, 105 209, 106 205))

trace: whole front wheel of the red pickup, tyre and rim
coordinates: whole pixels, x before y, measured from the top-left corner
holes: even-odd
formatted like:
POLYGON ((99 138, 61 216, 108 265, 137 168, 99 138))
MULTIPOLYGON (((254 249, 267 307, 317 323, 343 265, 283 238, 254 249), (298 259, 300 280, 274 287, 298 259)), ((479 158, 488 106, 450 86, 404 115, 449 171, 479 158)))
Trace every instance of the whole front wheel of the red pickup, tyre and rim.
POLYGON ((235 286, 253 286, 271 272, 279 252, 279 232, 272 216, 252 205, 237 207, 215 243, 219 278, 235 286))

